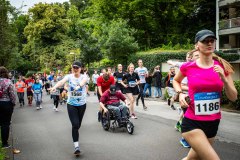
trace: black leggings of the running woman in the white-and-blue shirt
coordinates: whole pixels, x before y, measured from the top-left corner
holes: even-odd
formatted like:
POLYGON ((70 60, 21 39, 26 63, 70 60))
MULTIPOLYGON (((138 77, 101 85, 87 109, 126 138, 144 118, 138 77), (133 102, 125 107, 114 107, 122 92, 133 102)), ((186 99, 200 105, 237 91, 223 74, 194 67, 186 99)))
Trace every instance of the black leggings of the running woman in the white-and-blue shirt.
POLYGON ((78 142, 78 130, 81 127, 82 119, 86 110, 86 104, 82 106, 72 106, 67 104, 68 116, 72 123, 72 138, 73 142, 78 142))

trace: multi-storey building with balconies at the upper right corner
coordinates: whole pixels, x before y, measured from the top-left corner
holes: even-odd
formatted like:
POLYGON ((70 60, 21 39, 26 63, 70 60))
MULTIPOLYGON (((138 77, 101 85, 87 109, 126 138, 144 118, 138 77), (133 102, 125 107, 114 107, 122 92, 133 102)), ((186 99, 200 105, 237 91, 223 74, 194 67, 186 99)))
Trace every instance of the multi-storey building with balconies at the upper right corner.
MULTIPOLYGON (((240 0, 216 0, 216 49, 240 54, 240 0)), ((231 62, 234 80, 240 79, 240 60, 231 62)))

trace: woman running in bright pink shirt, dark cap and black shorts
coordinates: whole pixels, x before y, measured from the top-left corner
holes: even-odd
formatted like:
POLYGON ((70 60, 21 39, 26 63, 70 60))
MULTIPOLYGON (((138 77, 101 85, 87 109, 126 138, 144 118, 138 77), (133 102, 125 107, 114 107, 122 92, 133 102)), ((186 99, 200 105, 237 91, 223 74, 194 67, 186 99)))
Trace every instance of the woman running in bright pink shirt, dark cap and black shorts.
POLYGON ((174 77, 173 86, 179 94, 181 107, 187 108, 182 120, 182 136, 192 147, 183 160, 219 160, 212 147, 221 119, 221 92, 225 88, 229 100, 237 100, 233 84, 232 66, 215 55, 214 33, 201 30, 195 36, 195 47, 200 58, 181 66, 174 77), (187 95, 181 90, 181 81, 188 78, 189 104, 187 95))

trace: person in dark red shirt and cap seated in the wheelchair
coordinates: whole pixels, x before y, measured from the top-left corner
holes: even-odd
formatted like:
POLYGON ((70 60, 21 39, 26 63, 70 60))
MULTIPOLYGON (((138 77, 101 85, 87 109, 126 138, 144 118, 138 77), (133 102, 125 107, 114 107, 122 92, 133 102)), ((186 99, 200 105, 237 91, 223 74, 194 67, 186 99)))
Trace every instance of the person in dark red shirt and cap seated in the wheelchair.
POLYGON ((100 98, 100 106, 104 114, 107 113, 109 109, 113 110, 119 124, 121 124, 123 119, 128 118, 128 108, 125 104, 120 103, 120 100, 127 104, 126 98, 120 91, 116 90, 115 85, 111 85, 110 89, 106 90, 100 98))

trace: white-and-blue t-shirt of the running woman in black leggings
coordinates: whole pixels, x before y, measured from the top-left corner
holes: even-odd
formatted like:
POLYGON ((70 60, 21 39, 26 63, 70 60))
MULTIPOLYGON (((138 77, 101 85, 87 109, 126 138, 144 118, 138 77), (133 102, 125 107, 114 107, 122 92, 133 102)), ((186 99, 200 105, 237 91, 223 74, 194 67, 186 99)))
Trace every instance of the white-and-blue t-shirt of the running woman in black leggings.
POLYGON ((79 78, 69 74, 64 77, 68 82, 68 100, 67 103, 73 106, 82 106, 86 104, 86 85, 80 87, 83 80, 87 80, 87 76, 81 74, 79 78))

